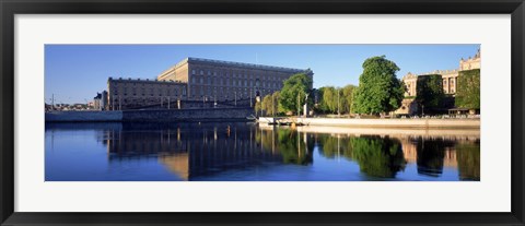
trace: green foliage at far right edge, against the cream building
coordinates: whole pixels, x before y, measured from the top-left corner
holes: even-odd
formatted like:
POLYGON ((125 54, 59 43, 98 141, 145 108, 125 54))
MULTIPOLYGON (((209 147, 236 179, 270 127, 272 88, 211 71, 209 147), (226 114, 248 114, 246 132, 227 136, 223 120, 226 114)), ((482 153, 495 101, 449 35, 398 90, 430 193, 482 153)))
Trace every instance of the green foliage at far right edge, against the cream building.
POLYGON ((456 107, 479 109, 480 70, 459 71, 456 85, 456 107))

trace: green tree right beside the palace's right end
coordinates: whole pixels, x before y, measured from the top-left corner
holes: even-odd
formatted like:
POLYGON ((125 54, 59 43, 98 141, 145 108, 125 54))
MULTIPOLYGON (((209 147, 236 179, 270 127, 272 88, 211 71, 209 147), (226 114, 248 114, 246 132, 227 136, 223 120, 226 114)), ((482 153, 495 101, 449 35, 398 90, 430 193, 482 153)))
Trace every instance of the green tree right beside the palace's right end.
MULTIPOLYGON (((298 112, 298 107, 302 109, 306 95, 312 91, 312 78, 305 73, 294 74, 285 80, 279 97, 279 110, 298 112)), ((308 96, 308 105, 312 105, 312 99, 313 97, 308 96)))

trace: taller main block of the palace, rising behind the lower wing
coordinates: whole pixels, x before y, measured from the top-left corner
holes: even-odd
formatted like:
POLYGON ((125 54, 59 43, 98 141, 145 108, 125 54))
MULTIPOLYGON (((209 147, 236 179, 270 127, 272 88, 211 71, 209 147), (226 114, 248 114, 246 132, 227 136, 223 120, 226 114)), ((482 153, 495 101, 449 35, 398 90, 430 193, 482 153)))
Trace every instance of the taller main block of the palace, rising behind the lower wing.
POLYGON ((188 100, 228 102, 280 91, 284 80, 302 72, 313 76, 310 69, 187 58, 161 73, 158 80, 187 83, 188 100))

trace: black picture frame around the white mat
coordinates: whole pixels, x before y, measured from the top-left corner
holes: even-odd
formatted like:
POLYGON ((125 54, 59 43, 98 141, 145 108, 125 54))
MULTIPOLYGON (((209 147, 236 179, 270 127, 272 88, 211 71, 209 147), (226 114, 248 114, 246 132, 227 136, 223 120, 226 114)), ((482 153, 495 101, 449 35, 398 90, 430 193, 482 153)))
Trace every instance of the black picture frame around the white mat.
MULTIPOLYGON (((525 225, 523 0, 0 0, 1 225, 525 225), (16 14, 511 14, 512 206, 509 213, 22 213, 14 212, 16 14)), ((498 194, 494 194, 498 195, 498 194)))

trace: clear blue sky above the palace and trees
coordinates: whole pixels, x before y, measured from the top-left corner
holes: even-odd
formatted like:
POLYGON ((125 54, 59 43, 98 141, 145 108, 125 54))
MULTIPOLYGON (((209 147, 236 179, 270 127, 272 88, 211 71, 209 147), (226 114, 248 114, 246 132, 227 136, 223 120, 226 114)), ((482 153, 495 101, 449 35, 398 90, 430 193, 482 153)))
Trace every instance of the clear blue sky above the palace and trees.
POLYGON ((457 69, 480 45, 46 45, 45 98, 85 103, 107 78, 154 79, 187 57, 314 71, 314 87, 359 84, 366 58, 385 55, 408 72, 457 69))

